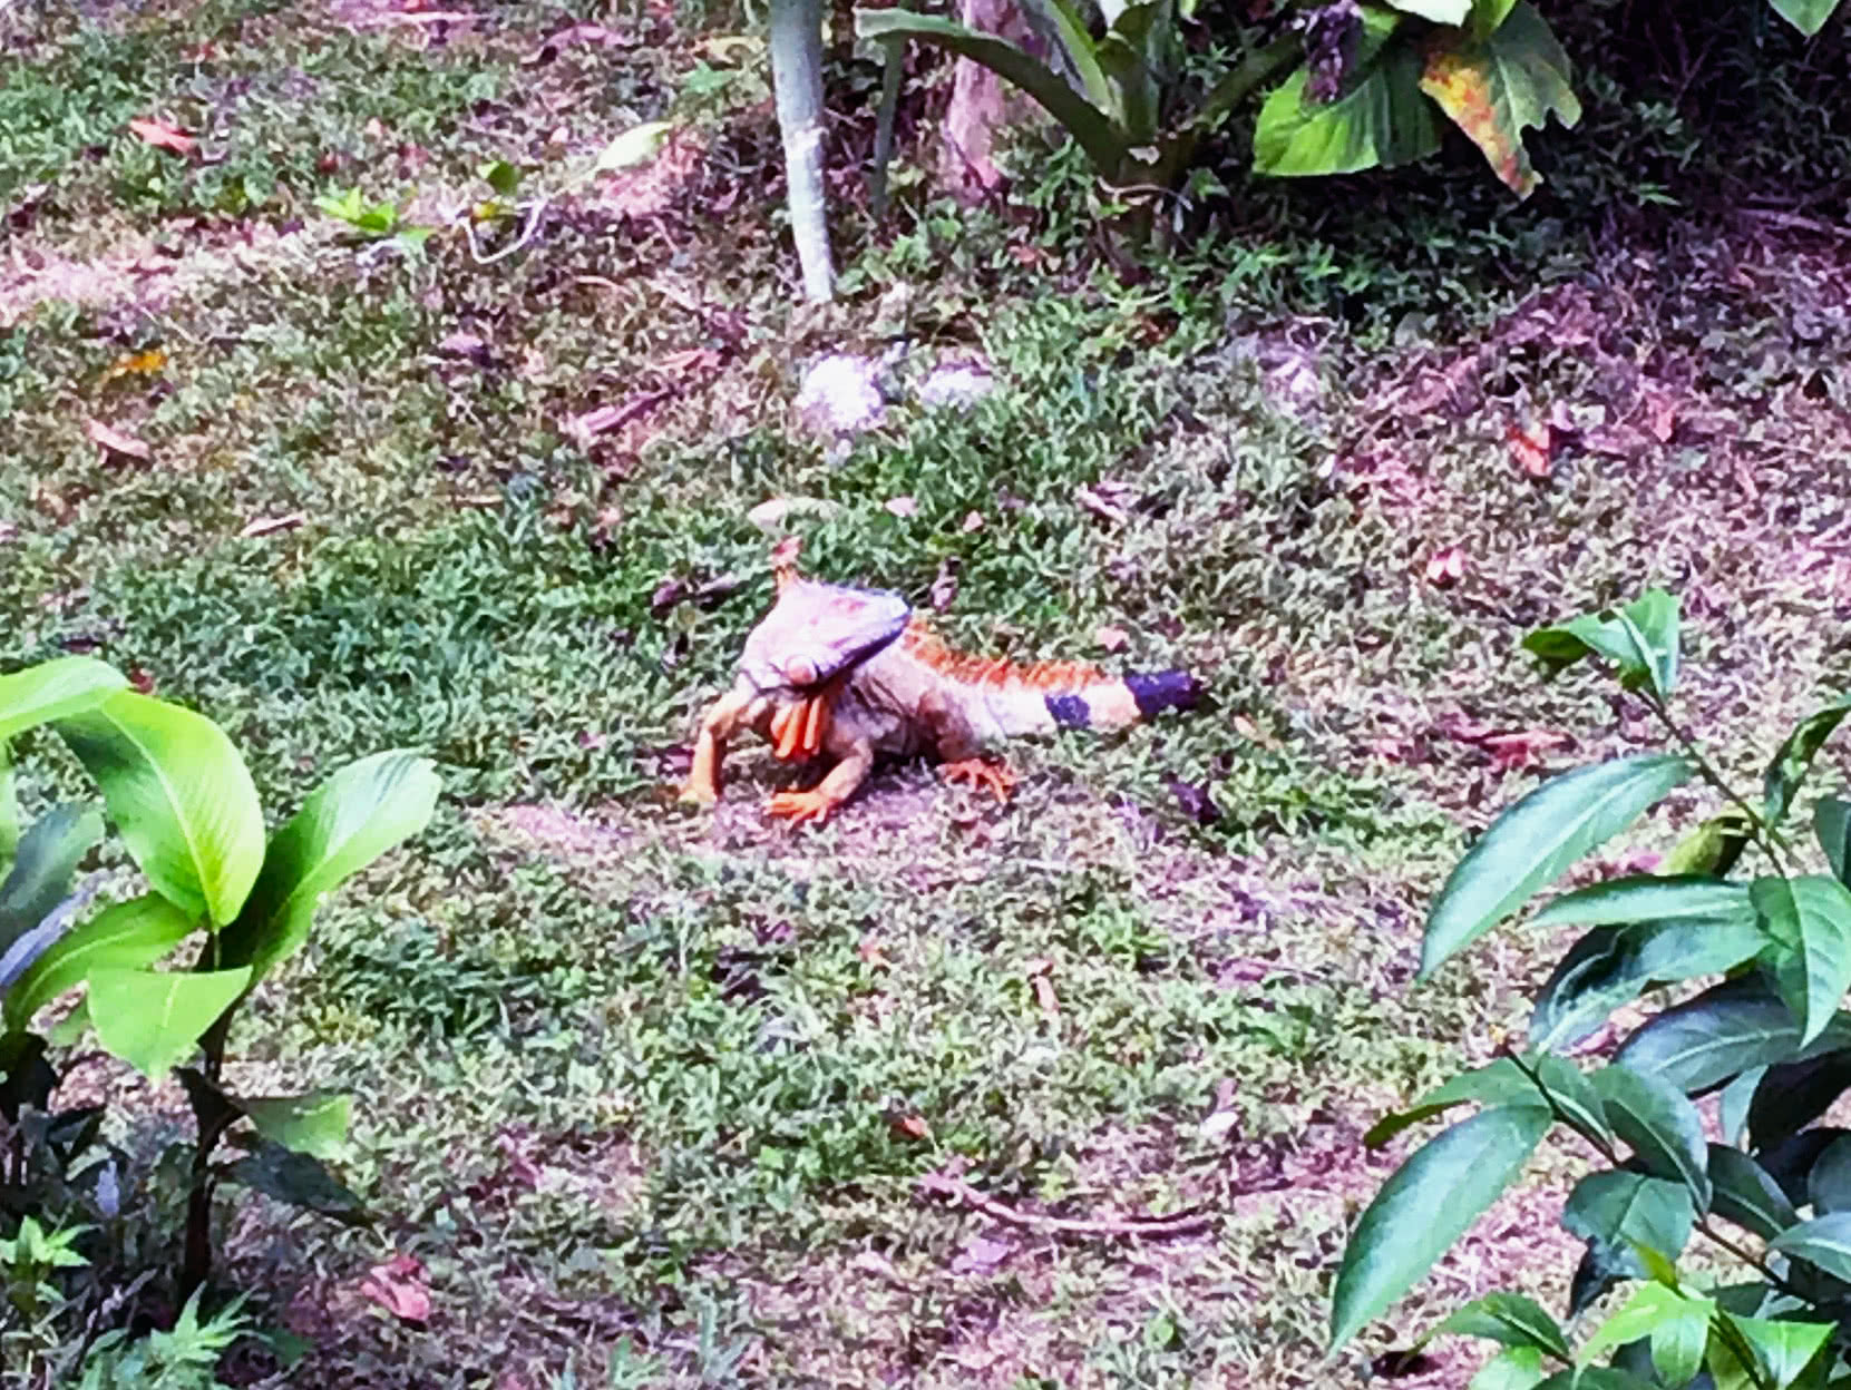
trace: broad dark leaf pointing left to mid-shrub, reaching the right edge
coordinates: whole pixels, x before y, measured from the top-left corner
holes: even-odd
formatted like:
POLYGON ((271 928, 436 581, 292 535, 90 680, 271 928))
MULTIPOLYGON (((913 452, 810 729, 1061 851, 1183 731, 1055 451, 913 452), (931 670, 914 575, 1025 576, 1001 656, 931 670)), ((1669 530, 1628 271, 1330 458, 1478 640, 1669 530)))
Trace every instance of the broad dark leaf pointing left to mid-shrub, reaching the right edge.
POLYGON ((1740 979, 1666 1009, 1627 1038, 1614 1061, 1697 1096, 1753 1066, 1792 1062, 1845 1046, 1851 1046, 1851 1020, 1840 1014, 1808 1049, 1801 1049, 1792 1009, 1762 981, 1740 979))

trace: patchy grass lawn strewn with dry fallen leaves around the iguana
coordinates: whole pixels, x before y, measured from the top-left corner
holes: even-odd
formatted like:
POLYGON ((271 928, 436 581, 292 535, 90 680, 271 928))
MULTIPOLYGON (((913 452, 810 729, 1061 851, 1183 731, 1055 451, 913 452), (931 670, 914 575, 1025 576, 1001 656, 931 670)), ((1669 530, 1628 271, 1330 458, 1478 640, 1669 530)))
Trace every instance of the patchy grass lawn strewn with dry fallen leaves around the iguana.
MULTIPOLYGON (((1677 718, 1734 787, 1845 689, 1851 98, 1836 22, 1547 17, 1583 118, 1531 133, 1523 204, 1451 143, 1257 178, 1236 113, 1198 155, 1227 198, 1114 259, 1040 133, 994 200, 933 192, 926 52, 876 218, 881 56, 837 54, 839 300, 800 307, 753 15, 0 11, 0 670, 96 657, 207 716, 272 842, 378 750, 442 783, 217 1077, 352 1094, 317 1157, 368 1222, 215 1188, 187 1303, 196 1186, 46 1207, 0 1231, 6 1375, 1438 1386, 1477 1347, 1388 1353, 1494 1288, 1564 1307, 1559 1131, 1322 1360, 1351 1227, 1429 1138, 1364 1133, 1516 1046, 1586 931, 1523 916, 1416 987, 1468 837, 1662 746, 1523 637, 1673 594, 1677 718), (892 400, 820 441, 790 400, 840 350, 892 400), (920 403, 948 361, 994 392, 920 403), (746 757, 690 814, 766 502, 963 644, 1188 666, 1211 703, 1016 750, 1007 807, 901 768, 792 837, 746 757)), ((94 798, 52 726, 13 751, 22 825, 94 798)), ((1714 800, 1668 790, 1560 887, 1714 800)), ((191 1162, 181 1081, 78 1027, 50 1107, 191 1162)))

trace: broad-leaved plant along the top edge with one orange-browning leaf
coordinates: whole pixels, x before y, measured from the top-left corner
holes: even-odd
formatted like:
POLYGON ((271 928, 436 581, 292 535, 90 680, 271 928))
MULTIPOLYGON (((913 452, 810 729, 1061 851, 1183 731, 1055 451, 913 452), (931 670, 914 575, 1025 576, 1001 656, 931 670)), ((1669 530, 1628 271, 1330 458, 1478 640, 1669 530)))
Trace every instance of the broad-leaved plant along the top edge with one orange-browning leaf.
MULTIPOLYGON (((1816 33, 1838 0, 1771 0, 1816 33)), ((1570 61, 1529 0, 1329 0, 1286 6, 1272 37, 1236 35, 1236 61, 1188 100, 1181 24, 1196 0, 1099 0, 1088 26, 1072 0, 1024 0, 1053 63, 1020 44, 938 15, 857 9, 863 37, 950 50, 1038 102, 1120 187, 1175 189, 1201 139, 1249 94, 1285 78, 1259 109, 1253 168, 1261 174, 1349 174, 1423 159, 1457 126, 1518 196, 1538 183, 1523 133, 1551 115, 1581 118, 1570 61), (1099 30, 1098 33, 1094 30, 1099 30)), ((1229 39, 1231 35, 1216 35, 1229 39)), ((883 135, 887 113, 883 111, 883 135)))

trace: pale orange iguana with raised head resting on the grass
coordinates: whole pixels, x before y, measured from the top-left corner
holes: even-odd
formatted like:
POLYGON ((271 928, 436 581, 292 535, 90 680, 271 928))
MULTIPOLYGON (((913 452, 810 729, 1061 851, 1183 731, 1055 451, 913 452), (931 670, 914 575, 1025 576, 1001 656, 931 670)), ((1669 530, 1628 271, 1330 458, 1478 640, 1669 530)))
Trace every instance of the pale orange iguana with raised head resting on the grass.
POLYGON ((985 750, 1025 733, 1116 729, 1190 709, 1201 694, 1185 672, 1107 676, 1048 661, 1018 666, 953 652, 900 594, 844 589, 798 574, 790 537, 772 552, 777 602, 746 637, 733 689, 709 709, 681 800, 720 800, 720 763, 740 729, 772 740, 779 759, 835 759, 805 792, 777 792, 770 814, 824 822, 877 755, 937 753, 946 781, 1007 800, 1014 776, 985 750))

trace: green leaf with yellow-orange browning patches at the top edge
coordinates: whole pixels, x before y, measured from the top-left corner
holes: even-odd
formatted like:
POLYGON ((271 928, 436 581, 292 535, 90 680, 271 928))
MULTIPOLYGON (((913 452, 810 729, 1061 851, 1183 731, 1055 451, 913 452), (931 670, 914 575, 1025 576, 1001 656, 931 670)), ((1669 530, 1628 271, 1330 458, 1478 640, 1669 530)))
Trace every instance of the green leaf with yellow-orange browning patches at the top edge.
MULTIPOLYGON (((1427 48, 1420 89, 1459 126, 1492 170, 1520 198, 1540 181, 1523 150, 1523 131, 1540 128, 1553 115, 1564 126, 1581 120, 1581 98, 1568 81, 1568 54, 1549 22, 1529 0, 1518 0, 1496 31, 1442 30, 1427 48)), ((1644 602, 1644 600, 1642 600, 1644 602)), ((1640 633, 1649 635, 1644 626, 1640 633)), ((1671 611, 1671 644, 1655 650, 1651 679, 1675 679, 1677 614, 1671 611)), ((1670 692, 1670 685, 1662 687, 1670 692)))

